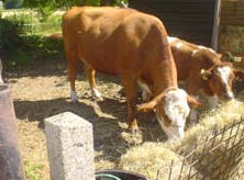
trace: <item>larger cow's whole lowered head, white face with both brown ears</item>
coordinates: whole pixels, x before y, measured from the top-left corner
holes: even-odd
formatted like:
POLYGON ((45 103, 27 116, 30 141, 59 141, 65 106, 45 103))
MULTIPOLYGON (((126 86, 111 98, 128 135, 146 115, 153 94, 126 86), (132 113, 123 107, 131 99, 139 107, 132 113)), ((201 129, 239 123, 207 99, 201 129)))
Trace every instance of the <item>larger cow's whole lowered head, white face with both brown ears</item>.
POLYGON ((168 138, 182 138, 185 136, 185 123, 190 113, 189 104, 201 105, 195 98, 188 95, 185 90, 169 88, 155 97, 152 101, 138 105, 138 111, 155 109, 157 120, 168 138))

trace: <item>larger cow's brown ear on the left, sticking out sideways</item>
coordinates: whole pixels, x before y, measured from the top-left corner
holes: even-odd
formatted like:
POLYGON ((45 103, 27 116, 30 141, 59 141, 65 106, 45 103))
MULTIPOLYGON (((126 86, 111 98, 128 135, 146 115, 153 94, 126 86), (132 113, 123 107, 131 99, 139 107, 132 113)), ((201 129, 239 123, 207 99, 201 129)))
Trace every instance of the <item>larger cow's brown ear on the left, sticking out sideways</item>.
POLYGON ((163 100, 165 93, 162 92, 160 94, 158 94, 157 97, 155 97, 153 100, 151 100, 149 102, 143 103, 141 105, 137 105, 137 111, 138 112, 147 112, 147 111, 152 111, 153 109, 155 109, 157 106, 157 104, 163 100))

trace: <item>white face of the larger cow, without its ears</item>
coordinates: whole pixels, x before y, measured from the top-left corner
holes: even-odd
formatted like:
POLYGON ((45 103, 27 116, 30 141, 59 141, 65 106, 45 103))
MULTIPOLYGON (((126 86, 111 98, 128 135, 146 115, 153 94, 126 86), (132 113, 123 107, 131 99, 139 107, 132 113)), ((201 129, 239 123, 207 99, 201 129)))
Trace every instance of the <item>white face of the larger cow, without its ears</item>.
POLYGON ((187 93, 181 89, 170 90, 164 102, 156 108, 157 120, 168 138, 184 138, 186 119, 190 113, 187 93))

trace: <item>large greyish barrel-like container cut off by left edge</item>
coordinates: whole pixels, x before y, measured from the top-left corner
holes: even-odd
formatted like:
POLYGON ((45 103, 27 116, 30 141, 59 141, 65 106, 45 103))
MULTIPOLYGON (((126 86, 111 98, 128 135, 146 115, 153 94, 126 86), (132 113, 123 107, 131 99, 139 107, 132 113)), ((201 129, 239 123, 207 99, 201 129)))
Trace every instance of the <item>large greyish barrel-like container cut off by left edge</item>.
POLYGON ((24 180, 10 87, 0 85, 0 180, 24 180))

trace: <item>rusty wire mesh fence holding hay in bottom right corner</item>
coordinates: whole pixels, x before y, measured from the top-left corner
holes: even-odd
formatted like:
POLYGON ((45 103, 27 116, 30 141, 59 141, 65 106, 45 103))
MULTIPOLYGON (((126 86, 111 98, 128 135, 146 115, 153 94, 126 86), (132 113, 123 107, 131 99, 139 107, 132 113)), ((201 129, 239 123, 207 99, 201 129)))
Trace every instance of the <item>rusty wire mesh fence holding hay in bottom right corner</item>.
POLYGON ((239 168, 243 153, 244 120, 241 119, 208 136, 203 144, 197 144, 180 162, 171 161, 168 177, 163 177, 158 169, 156 180, 242 179, 239 168))

